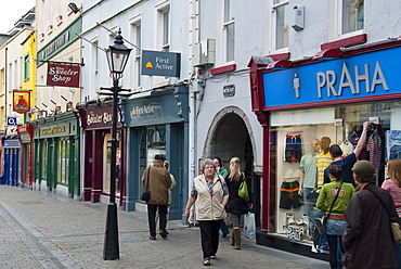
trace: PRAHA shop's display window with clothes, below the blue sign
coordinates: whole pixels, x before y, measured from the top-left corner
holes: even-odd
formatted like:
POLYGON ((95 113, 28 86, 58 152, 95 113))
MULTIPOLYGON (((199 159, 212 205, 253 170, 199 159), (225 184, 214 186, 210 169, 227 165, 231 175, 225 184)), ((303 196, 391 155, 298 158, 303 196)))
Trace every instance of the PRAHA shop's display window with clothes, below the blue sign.
MULTIPOLYGON (((374 164, 376 184, 381 185, 386 178, 386 162, 401 158, 400 116, 401 100, 272 112, 269 177, 275 180, 276 187, 276 233, 300 241, 312 239, 313 226, 308 226, 308 222, 313 217, 319 217, 319 212, 313 209, 315 201, 306 196, 316 184, 323 184, 323 179, 322 182, 316 181, 316 178, 320 180, 320 171, 316 170, 315 158, 323 149, 332 144, 340 146, 342 158, 351 154, 364 121, 374 124, 370 126, 366 146, 358 158, 374 164), (313 142, 316 139, 320 141, 320 149, 314 152, 313 142), (303 178, 302 185, 300 161, 307 155, 312 161, 303 167, 303 171, 308 169, 310 177, 303 178), (303 191, 302 197, 298 195, 298 188, 303 191)), ((326 163, 322 163, 322 167, 327 167, 331 162, 328 157, 326 163)))

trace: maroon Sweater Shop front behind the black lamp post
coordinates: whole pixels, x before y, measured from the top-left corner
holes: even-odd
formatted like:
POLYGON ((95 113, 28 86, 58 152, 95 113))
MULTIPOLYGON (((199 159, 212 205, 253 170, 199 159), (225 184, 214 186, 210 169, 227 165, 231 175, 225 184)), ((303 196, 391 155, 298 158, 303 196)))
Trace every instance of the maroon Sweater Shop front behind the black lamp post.
MULTIPOLYGON (((108 203, 111 189, 112 102, 88 104, 79 110, 83 130, 83 201, 108 203)), ((126 146, 125 129, 117 123, 116 200, 125 208, 126 146)))

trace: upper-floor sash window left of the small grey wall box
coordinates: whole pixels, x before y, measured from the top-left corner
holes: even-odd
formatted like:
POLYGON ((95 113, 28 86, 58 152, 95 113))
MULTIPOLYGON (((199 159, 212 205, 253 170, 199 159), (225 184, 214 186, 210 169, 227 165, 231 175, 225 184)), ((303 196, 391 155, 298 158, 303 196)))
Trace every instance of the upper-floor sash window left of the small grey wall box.
POLYGON ((288 47, 288 0, 273 0, 275 16, 275 49, 288 47))

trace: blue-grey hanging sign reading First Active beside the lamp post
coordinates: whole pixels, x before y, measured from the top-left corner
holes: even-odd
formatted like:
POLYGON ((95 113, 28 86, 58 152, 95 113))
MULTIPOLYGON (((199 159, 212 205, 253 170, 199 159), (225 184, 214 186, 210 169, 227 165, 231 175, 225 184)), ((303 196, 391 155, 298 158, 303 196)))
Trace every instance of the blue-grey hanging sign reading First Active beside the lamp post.
POLYGON ((180 77, 181 54, 163 51, 142 51, 142 75, 180 77))

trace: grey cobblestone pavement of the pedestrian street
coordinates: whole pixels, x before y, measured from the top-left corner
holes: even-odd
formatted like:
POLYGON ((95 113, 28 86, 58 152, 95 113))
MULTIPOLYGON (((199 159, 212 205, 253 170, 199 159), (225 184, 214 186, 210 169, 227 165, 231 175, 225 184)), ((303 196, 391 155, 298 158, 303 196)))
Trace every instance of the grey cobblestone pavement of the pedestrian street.
MULTIPOLYGON (((169 221, 148 240, 146 214, 118 210, 119 253, 103 259, 106 205, 0 185, 0 268, 204 268, 198 228, 169 221)), ((328 268, 328 262, 255 244, 220 241, 211 268, 328 268)))

